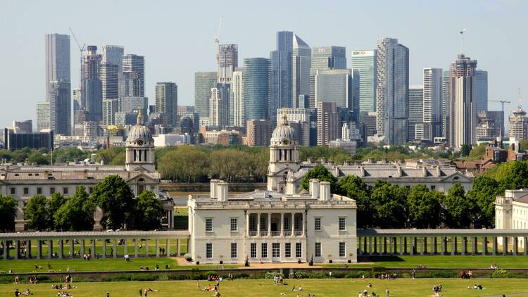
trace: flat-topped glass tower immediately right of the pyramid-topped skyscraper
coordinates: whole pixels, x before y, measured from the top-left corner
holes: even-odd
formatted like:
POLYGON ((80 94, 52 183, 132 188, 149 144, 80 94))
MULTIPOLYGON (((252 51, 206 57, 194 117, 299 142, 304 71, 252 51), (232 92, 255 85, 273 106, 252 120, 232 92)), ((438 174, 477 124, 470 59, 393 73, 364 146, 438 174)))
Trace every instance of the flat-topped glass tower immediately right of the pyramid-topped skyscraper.
POLYGON ((346 69, 346 49, 344 46, 315 46, 312 48, 310 66, 310 108, 315 104, 315 72, 325 69, 346 69))

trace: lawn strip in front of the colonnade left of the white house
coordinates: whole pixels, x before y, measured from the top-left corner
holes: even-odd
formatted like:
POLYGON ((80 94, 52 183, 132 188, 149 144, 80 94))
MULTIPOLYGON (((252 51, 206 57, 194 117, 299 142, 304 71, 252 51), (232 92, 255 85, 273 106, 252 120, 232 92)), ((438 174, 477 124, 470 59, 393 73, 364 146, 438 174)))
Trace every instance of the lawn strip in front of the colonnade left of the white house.
MULTIPOLYGON (((165 270, 165 265, 170 265, 171 270, 187 270, 195 267, 199 267, 202 270, 214 270, 220 269, 221 267, 233 268, 238 267, 237 265, 189 265, 189 266, 178 266, 177 261, 174 258, 131 258, 129 262, 121 259, 101 259, 101 260, 89 260, 85 261, 82 259, 53 259, 53 260, 8 260, 0 261, 0 273, 7 273, 8 270, 13 270, 15 273, 25 272, 48 272, 48 263, 51 265, 51 270, 55 272, 66 272, 68 266, 71 271, 75 272, 93 272, 93 271, 126 271, 140 270, 142 266, 148 266, 150 270, 154 270, 156 264, 160 266, 161 270, 165 270), (34 269, 34 265, 41 268, 34 269)), ((1 295, 0 295, 1 296, 1 295)))

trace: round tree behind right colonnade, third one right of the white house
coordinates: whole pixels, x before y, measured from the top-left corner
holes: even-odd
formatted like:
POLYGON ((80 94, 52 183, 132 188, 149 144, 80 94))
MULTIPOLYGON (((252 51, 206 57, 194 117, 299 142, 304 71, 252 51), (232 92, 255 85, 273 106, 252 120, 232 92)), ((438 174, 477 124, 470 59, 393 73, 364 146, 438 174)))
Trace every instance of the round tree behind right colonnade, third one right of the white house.
POLYGON ((427 186, 419 184, 410 189, 407 198, 410 227, 434 229, 441 222, 440 201, 444 194, 429 191, 427 186))

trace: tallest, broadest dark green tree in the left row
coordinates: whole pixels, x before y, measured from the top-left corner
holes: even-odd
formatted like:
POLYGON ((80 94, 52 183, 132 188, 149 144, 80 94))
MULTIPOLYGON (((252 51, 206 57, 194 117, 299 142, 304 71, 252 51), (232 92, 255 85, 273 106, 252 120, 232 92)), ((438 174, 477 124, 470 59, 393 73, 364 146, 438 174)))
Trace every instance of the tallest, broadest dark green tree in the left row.
POLYGON ((132 219, 134 193, 119 175, 110 175, 96 184, 90 198, 103 210, 101 225, 104 227, 118 229, 132 219))

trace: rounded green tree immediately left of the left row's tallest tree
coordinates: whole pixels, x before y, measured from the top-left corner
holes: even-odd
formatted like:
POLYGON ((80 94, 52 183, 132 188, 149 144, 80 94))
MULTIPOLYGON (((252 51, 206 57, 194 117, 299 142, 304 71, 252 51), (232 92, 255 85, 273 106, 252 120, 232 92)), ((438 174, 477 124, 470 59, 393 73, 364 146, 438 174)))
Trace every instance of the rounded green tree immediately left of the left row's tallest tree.
POLYGON ((90 201, 86 188, 77 187, 75 194, 54 214, 55 225, 61 231, 87 231, 94 228, 95 206, 90 201))

